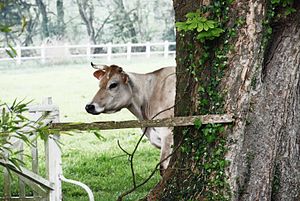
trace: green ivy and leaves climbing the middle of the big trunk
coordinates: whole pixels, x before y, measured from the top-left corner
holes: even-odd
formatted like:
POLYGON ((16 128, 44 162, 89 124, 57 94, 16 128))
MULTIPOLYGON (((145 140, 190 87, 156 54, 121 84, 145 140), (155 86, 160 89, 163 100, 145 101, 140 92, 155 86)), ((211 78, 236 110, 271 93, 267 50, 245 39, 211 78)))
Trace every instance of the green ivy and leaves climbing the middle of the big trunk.
MULTIPOLYGON (((213 1, 196 12, 188 13, 185 22, 176 23, 178 31, 189 33, 196 39, 185 45, 185 52, 188 54, 179 62, 188 66, 198 84, 198 111, 203 115, 224 113, 220 83, 227 68, 227 55, 233 49, 230 41, 236 36, 236 28, 245 23, 245 19, 238 18, 228 27, 228 10, 232 2, 213 1), (209 16, 209 19, 203 16, 209 16), (213 35, 213 30, 220 31, 213 35)), ((185 34, 179 36, 185 37, 185 34)), ((172 196, 174 200, 228 201, 231 191, 225 175, 225 169, 229 165, 229 161, 225 159, 225 127, 221 124, 202 125, 198 120, 194 125, 194 129, 184 130, 185 138, 181 146, 183 158, 188 158, 192 163, 181 167, 189 169, 192 166, 182 173, 187 174, 183 177, 188 179, 180 185, 176 185, 175 179, 171 181, 168 184, 170 188, 164 192, 165 198, 172 196)), ((184 165, 186 160, 183 159, 184 165)))

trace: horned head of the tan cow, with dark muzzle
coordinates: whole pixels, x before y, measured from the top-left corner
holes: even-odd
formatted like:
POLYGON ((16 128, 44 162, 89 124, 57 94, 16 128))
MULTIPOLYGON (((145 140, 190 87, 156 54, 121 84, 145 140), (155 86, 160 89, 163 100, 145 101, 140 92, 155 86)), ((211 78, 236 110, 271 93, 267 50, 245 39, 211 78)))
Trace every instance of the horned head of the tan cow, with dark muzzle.
MULTIPOLYGON (((91 63, 93 68, 98 67, 91 63)), ((130 105, 132 90, 128 83, 128 75, 116 65, 102 66, 94 72, 99 80, 99 90, 92 102, 85 106, 88 113, 114 113, 130 105)))

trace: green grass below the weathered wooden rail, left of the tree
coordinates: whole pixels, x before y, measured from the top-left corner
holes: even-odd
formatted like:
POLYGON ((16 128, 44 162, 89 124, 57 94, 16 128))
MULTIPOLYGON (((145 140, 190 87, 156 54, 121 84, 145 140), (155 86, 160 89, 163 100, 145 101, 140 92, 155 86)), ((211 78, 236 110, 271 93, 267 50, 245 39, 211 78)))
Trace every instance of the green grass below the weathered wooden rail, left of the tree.
MULTIPOLYGON (((72 132, 72 135, 61 135, 63 173, 66 178, 81 181, 87 184, 94 193, 96 201, 115 201, 118 196, 132 186, 130 163, 128 157, 119 149, 117 140, 121 141, 124 149, 130 151, 134 148, 140 137, 139 129, 122 129, 101 131, 100 134, 106 141, 99 140, 92 132, 72 132)), ((40 175, 45 176, 42 146, 43 141, 38 141, 40 175)), ((25 147, 25 154, 30 154, 30 149, 25 147)), ((27 167, 31 161, 26 160, 27 167)), ((148 140, 142 141, 135 157, 135 171, 138 182, 143 181, 159 161, 159 150, 154 148, 148 140)), ((2 171, 0 166, 0 172, 2 171)), ((136 201, 147 195, 159 181, 159 172, 145 186, 137 189, 127 196, 127 201, 136 201)), ((12 194, 18 194, 18 178, 12 178, 12 194)), ((0 196, 3 195, 3 177, 0 174, 0 196)), ((87 193, 80 187, 63 182, 63 200, 86 201, 87 193)), ((30 195, 30 192, 28 192, 30 195)))

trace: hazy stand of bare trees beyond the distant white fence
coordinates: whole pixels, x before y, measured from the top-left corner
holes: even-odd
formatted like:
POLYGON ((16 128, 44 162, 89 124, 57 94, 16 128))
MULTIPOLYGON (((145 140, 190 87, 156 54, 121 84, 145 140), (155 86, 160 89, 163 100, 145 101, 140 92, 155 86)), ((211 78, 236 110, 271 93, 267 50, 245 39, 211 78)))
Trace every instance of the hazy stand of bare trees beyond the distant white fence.
POLYGON ((169 0, 16 0, 6 4, 1 22, 20 27, 26 23, 21 36, 14 30, 0 33, 0 38, 11 44, 40 45, 45 40, 54 44, 175 40, 174 11, 169 0))

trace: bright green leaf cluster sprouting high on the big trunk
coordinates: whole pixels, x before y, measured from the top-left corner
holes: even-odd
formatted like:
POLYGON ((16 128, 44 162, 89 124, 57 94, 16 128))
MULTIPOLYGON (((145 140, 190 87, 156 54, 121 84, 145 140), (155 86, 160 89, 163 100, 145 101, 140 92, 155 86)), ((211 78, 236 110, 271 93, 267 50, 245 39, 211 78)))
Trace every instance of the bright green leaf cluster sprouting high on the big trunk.
POLYGON ((216 21, 208 20, 200 10, 187 13, 186 18, 187 20, 184 22, 176 22, 178 31, 196 31, 196 38, 202 43, 218 38, 224 32, 216 21))

